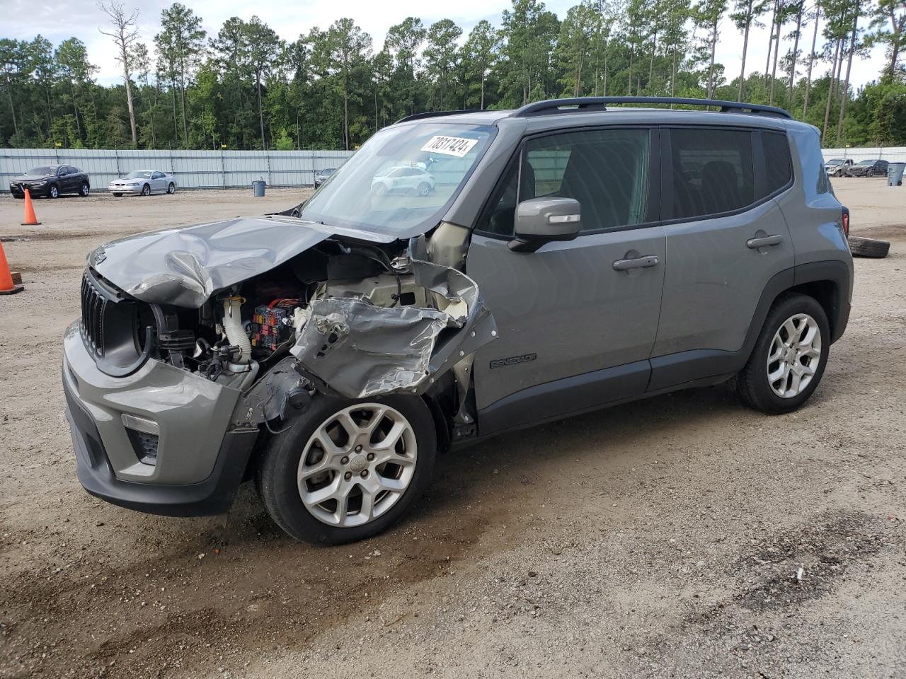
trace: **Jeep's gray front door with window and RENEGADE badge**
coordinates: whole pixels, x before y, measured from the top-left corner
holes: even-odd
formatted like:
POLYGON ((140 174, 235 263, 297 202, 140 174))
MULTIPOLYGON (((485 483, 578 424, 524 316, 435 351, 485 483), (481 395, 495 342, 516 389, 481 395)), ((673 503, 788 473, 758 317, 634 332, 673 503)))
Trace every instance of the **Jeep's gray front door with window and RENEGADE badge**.
POLYGON ((664 231, 651 225, 656 139, 651 129, 592 129, 525 142, 467 256, 498 332, 474 362, 480 434, 647 386, 666 256, 664 231), (510 250, 517 203, 542 196, 578 200, 582 232, 510 250))

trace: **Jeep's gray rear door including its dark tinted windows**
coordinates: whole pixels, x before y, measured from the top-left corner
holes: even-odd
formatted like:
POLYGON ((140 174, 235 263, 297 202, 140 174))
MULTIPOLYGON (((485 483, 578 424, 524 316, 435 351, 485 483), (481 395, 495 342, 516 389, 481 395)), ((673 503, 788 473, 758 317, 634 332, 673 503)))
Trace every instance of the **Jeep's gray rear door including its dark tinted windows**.
POLYGON ((782 131, 661 130, 664 278, 649 390, 735 366, 767 283, 794 250, 774 198, 793 181, 782 131))

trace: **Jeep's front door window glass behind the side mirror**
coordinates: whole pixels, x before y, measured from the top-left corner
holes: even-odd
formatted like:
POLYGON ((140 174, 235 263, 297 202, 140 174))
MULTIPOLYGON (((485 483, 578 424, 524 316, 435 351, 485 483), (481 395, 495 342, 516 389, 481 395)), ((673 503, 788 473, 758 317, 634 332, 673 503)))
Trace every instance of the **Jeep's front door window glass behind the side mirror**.
POLYGON ((579 201, 583 231, 645 222, 650 139, 648 129, 591 129, 529 139, 484 230, 512 235, 516 204, 542 197, 579 201))

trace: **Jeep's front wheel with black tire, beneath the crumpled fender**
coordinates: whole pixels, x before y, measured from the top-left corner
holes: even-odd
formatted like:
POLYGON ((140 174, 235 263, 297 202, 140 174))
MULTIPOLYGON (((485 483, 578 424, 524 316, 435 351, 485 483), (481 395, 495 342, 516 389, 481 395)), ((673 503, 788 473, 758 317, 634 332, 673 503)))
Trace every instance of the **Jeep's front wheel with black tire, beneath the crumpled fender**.
MULTIPOLYGON (((380 443, 379 441, 374 445, 380 446, 380 443)), ((375 452, 371 454, 386 454, 386 449, 383 453, 379 447, 373 450, 375 452)), ((357 401, 315 397, 308 412, 294 418, 266 445, 258 464, 258 493, 275 523, 295 540, 314 545, 363 540, 377 535, 399 520, 410 503, 425 491, 430 483, 436 453, 434 419, 428 406, 419 397, 390 396, 357 401), (362 409, 357 410, 357 406, 362 409), (368 434, 364 433, 363 428, 356 431, 360 436, 366 437, 358 439, 360 443, 364 443, 364 448, 356 446, 356 439, 346 426, 342 427, 342 431, 328 426, 330 423, 335 426, 337 416, 343 413, 350 415, 346 422, 354 422, 358 414, 363 426, 370 426, 376 413, 375 408, 383 408, 387 413, 386 418, 382 415, 381 421, 376 425, 379 430, 396 426, 400 422, 408 424, 408 429, 400 425, 403 431, 401 443, 395 444, 393 450, 411 455, 411 467, 409 464, 379 464, 380 456, 369 462, 371 457, 366 458, 365 455, 370 454, 372 449, 366 440, 368 434), (371 413, 371 417, 361 418, 361 414, 367 412, 371 413), (342 438, 343 432, 346 434, 345 440, 342 438), (328 457, 323 453, 325 448, 317 444, 316 433, 319 436, 330 435, 336 450, 333 455, 328 457), (331 462, 326 471, 318 475, 315 467, 325 459, 331 462), (298 475, 305 471, 306 466, 311 475, 300 486, 298 475), (394 474, 398 474, 399 478, 391 478, 394 474), (400 485, 400 492, 382 489, 379 479, 384 483, 400 485), (339 489, 338 493, 342 493, 343 489, 351 489, 343 501, 348 513, 341 514, 340 501, 331 498, 325 498, 321 504, 314 503, 316 496, 313 493, 319 490, 329 493, 327 487, 334 484, 339 489), (308 494, 307 505, 303 502, 303 488, 308 494), (366 488, 373 491, 369 493, 369 504, 372 511, 378 513, 371 519, 360 516, 365 505, 366 488), (345 521, 346 525, 341 521, 345 521)), ((395 459, 407 458, 397 455, 395 459)))

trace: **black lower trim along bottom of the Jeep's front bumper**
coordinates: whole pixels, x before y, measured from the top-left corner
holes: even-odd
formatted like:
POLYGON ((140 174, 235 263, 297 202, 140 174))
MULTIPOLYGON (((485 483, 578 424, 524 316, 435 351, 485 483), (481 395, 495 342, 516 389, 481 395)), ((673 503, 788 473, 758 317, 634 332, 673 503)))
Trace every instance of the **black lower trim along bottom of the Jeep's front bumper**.
POLYGON ((70 393, 65 379, 63 391, 75 447, 76 473, 86 491, 120 507, 149 514, 208 516, 229 510, 246 473, 257 429, 226 432, 214 471, 200 483, 167 485, 122 481, 113 474, 92 417, 70 393))

